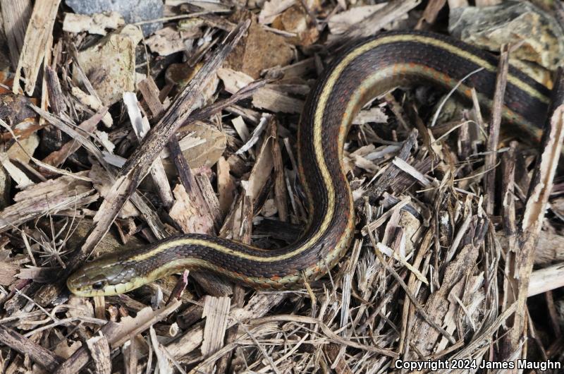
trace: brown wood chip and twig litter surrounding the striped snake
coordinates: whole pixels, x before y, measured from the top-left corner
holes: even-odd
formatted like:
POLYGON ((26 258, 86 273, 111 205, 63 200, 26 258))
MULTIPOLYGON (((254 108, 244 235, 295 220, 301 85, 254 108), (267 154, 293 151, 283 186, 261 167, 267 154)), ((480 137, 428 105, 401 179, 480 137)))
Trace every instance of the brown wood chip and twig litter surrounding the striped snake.
MULTIPOLYGON (((135 1, 79 2, 0 0, 2 372, 375 374, 564 360, 564 109, 555 103, 541 147, 504 131, 508 66, 527 51, 471 32, 484 9, 152 0, 139 1, 156 4, 139 18, 123 8, 135 1), (501 52, 494 109, 475 91, 458 102, 425 83, 355 108, 341 161, 356 231, 327 275, 257 291, 191 268, 126 294, 69 293, 86 261, 171 236, 265 251, 295 242, 309 210, 298 123, 314 115, 302 114, 308 95, 326 95, 314 82, 356 40, 445 32, 462 16, 450 30, 501 52)), ((495 9, 525 17, 508 3, 495 9)), ((558 60, 546 56, 558 43, 537 60, 558 60)))

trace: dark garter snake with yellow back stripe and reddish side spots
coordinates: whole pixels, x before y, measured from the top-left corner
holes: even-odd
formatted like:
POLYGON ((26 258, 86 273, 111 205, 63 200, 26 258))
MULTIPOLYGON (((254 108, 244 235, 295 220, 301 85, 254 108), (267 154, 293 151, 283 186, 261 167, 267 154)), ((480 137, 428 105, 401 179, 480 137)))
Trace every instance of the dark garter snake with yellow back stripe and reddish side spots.
MULTIPOLYGON (((104 255, 67 279, 78 296, 111 296, 182 272, 209 271, 258 290, 299 289, 326 275, 345 256, 355 234, 355 208, 343 147, 355 115, 394 88, 431 85, 453 90, 491 111, 498 58, 432 32, 385 32, 336 56, 309 92, 297 134, 298 174, 307 199, 301 236, 264 249, 205 234, 173 236, 145 248, 104 255)), ((550 91, 508 68, 502 116, 510 128, 539 139, 550 91)))

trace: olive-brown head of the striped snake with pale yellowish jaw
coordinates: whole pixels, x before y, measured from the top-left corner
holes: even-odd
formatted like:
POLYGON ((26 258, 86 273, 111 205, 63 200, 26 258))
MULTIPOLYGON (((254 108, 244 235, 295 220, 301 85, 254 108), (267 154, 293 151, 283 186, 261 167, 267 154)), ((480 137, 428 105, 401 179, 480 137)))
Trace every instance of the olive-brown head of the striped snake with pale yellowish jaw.
POLYGON ((87 263, 66 281, 73 294, 84 297, 123 294, 145 283, 142 278, 136 277, 134 267, 128 267, 116 255, 87 263))

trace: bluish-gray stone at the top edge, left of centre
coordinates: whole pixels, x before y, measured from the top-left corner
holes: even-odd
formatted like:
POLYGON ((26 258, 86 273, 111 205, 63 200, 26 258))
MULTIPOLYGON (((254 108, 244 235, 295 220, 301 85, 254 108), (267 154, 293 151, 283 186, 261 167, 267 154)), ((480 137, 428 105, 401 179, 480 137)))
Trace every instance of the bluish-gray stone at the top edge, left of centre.
MULTIPOLYGON (((75 13, 94 14, 116 11, 127 23, 155 20, 163 16, 162 0, 65 0, 75 13)), ((161 22, 141 25, 143 35, 151 35, 162 28, 161 22)))

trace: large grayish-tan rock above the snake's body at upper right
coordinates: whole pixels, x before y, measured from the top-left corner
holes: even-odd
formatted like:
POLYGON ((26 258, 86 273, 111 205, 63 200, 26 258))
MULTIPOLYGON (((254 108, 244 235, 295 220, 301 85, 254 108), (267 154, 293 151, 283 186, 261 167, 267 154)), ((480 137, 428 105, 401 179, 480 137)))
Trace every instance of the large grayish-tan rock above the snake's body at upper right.
POLYGON ((523 42, 511 55, 551 70, 564 60, 564 30, 553 16, 529 2, 453 8, 448 30, 464 42, 492 52, 499 52, 504 43, 523 42))

